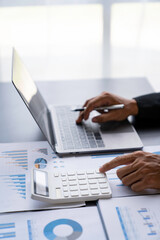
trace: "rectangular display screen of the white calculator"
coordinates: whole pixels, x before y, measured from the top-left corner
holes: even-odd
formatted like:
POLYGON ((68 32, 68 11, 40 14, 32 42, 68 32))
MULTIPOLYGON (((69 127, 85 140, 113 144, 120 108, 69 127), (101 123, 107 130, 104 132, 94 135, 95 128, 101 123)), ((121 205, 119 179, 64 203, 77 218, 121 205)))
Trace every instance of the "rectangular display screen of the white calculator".
POLYGON ((47 172, 34 170, 34 193, 46 197, 49 196, 47 172))

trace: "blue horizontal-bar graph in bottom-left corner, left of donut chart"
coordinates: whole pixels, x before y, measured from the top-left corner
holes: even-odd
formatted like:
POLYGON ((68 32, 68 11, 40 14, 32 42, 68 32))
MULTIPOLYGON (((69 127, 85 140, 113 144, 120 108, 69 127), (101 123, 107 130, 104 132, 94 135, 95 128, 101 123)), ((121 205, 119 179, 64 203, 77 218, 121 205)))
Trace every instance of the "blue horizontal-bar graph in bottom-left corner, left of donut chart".
POLYGON ((15 223, 0 223, 0 239, 15 238, 15 223))

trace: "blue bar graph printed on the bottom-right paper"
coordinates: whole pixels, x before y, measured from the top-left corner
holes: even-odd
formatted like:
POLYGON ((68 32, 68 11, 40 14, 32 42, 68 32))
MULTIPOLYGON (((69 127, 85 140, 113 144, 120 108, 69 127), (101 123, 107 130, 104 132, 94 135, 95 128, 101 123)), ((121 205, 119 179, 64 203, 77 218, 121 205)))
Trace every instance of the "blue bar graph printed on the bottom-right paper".
POLYGON ((116 207, 125 240, 159 239, 159 211, 149 208, 116 207))

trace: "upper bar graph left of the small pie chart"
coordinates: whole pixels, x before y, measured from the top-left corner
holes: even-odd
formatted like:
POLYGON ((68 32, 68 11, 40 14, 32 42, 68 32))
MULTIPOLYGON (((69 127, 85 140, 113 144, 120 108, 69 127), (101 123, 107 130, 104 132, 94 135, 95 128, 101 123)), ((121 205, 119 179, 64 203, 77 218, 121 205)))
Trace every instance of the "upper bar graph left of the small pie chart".
POLYGON ((27 150, 4 151, 0 154, 0 159, 6 160, 6 164, 28 170, 27 150))

